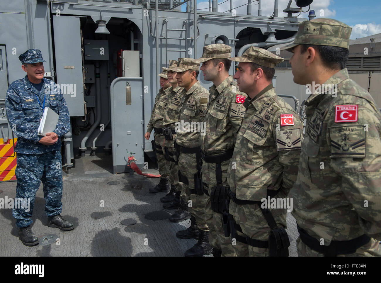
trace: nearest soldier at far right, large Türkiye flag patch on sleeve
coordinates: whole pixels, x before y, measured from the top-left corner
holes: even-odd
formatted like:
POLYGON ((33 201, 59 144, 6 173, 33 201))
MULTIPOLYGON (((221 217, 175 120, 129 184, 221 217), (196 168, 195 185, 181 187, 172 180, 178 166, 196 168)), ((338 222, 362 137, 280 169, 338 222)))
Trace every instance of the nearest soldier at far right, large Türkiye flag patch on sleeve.
POLYGON ((345 68, 350 35, 344 23, 313 19, 284 48, 294 53, 294 82, 321 86, 305 103, 306 136, 290 192, 299 256, 381 255, 381 115, 345 68))

